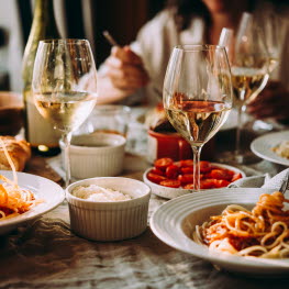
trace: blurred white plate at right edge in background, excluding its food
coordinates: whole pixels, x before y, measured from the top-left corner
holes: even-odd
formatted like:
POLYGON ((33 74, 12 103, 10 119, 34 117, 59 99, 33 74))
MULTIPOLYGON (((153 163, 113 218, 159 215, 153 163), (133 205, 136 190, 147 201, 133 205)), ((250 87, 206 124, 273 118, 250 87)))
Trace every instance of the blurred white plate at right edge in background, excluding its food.
POLYGON ((289 166, 289 159, 278 156, 271 151, 273 147, 280 144, 282 141, 289 141, 289 131, 268 133, 257 137, 251 144, 252 152, 266 160, 289 166))

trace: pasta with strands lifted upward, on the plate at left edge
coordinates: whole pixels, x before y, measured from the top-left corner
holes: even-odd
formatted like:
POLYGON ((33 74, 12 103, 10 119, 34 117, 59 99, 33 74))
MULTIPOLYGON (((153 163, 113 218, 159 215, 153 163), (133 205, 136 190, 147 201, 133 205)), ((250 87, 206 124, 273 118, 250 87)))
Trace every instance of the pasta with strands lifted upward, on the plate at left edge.
POLYGON ((14 164, 11 160, 5 144, 1 137, 0 144, 3 147, 4 154, 13 171, 13 181, 0 175, 0 180, 3 181, 2 185, 0 184, 0 220, 4 220, 24 213, 42 201, 35 200, 30 190, 21 189, 18 186, 18 176, 14 164))

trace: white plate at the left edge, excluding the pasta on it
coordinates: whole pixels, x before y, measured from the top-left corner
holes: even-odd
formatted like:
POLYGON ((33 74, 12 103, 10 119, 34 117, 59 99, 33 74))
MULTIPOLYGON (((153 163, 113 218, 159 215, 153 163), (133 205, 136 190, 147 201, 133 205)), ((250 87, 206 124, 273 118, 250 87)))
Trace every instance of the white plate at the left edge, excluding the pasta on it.
MULTIPOLYGON (((43 200, 43 202, 38 203, 23 214, 7 220, 0 220, 0 234, 4 234, 18 227, 22 223, 40 218, 42 214, 47 213, 48 211, 56 208, 65 199, 63 188, 56 182, 31 174, 16 174, 19 186, 21 188, 31 190, 35 198, 43 200)), ((0 175, 11 180, 13 179, 12 171, 10 170, 0 170, 0 175)))

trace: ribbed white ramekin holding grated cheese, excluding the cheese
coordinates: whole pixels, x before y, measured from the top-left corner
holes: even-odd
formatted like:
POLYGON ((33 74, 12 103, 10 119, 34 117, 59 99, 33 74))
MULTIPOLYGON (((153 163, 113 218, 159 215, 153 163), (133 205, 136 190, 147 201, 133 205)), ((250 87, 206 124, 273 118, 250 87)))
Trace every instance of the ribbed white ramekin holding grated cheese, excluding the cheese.
POLYGON ((107 177, 74 182, 66 189, 71 230, 77 235, 95 241, 119 241, 137 236, 147 226, 149 197, 149 187, 135 179, 107 177), (71 193, 76 187, 89 185, 119 190, 133 199, 96 202, 71 193))

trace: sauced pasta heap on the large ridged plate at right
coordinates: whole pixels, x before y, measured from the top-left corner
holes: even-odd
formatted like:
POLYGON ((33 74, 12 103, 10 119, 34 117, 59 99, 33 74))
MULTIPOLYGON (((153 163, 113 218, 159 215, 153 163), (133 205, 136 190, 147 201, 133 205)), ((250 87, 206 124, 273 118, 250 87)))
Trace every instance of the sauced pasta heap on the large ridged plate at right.
POLYGON ((221 215, 196 226, 192 238, 209 249, 263 258, 289 257, 289 202, 279 191, 264 193, 252 211, 227 205, 221 215))

